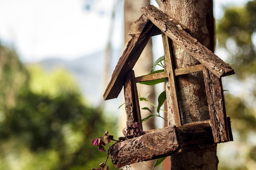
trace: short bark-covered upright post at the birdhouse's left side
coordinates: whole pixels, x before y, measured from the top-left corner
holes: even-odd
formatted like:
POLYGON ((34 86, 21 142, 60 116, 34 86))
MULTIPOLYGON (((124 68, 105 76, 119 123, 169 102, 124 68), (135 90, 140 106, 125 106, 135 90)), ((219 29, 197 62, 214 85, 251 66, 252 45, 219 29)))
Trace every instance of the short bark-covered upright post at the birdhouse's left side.
POLYGON ((143 130, 139 110, 139 97, 133 70, 130 70, 126 75, 126 81, 124 82, 124 100, 127 115, 126 126, 138 122, 139 128, 143 130))

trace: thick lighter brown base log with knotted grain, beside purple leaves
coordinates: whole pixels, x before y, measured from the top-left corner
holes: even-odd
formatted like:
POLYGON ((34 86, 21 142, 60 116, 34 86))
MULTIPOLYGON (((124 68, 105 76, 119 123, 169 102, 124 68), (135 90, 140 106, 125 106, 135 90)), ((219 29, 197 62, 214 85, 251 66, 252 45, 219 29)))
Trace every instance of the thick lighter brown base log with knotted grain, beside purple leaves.
POLYGON ((145 135, 117 142, 110 146, 110 160, 116 168, 156 159, 179 148, 175 127, 157 129, 145 135))

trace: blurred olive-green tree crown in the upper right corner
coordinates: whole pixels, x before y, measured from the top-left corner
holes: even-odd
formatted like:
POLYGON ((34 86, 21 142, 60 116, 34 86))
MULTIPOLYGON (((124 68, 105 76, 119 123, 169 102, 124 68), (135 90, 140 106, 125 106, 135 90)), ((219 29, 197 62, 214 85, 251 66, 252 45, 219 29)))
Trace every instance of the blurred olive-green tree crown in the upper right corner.
POLYGON ((228 52, 227 62, 243 78, 256 72, 256 1, 243 7, 225 7, 224 16, 217 21, 218 47, 228 52))

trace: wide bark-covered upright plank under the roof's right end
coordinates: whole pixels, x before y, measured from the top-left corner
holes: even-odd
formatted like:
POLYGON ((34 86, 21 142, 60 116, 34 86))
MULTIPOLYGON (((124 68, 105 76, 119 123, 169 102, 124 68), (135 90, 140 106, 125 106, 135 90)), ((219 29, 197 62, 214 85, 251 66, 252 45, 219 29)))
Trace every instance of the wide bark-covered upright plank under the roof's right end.
POLYGON ((203 75, 214 142, 230 141, 221 79, 205 67, 203 75))

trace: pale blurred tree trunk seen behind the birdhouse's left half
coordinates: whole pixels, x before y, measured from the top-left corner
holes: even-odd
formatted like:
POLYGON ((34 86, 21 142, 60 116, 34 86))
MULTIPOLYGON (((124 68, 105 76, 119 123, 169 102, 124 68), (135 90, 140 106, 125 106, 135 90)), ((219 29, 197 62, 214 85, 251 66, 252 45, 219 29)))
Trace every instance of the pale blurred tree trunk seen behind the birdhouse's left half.
MULTIPOLYGON (((124 1, 124 45, 128 44, 128 41, 131 39, 131 36, 128 35, 130 26, 137 20, 142 12, 140 11, 141 7, 145 7, 150 4, 150 0, 125 0, 124 1)), ((135 71, 135 76, 146 75, 150 73, 150 68, 153 65, 153 51, 152 51, 152 40, 150 39, 143 52, 141 53, 139 60, 136 62, 133 70, 135 71)), ((147 86, 137 83, 137 91, 142 96, 145 97, 148 93, 150 94, 148 99, 155 103, 155 90, 153 86, 147 86)), ((146 102, 140 103, 140 108, 148 107, 152 108, 151 105, 146 102)), ((146 110, 141 111, 141 118, 146 117, 150 113, 146 110)), ((123 113, 122 117, 126 117, 123 113)), ((124 121, 122 121, 124 122, 124 121)), ((124 128, 124 127, 123 127, 124 128)), ((154 119, 151 118, 143 123, 143 130, 155 129, 154 119)), ((132 170, 151 170, 155 161, 139 162, 132 165, 132 170), (146 164, 146 165, 144 165, 146 164)))

